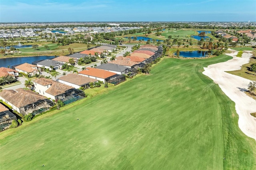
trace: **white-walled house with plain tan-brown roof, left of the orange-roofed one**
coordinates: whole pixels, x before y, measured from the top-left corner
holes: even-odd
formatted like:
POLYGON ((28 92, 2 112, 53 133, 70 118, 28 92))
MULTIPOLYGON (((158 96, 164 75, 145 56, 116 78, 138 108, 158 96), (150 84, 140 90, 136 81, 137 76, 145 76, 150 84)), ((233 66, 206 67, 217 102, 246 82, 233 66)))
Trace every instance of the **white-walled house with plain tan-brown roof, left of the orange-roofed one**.
POLYGON ((88 88, 90 86, 90 83, 98 82, 98 80, 96 79, 92 79, 90 77, 85 77, 85 76, 74 74, 74 73, 64 75, 58 78, 58 81, 65 85, 72 86, 76 89, 79 89, 80 87, 88 88))

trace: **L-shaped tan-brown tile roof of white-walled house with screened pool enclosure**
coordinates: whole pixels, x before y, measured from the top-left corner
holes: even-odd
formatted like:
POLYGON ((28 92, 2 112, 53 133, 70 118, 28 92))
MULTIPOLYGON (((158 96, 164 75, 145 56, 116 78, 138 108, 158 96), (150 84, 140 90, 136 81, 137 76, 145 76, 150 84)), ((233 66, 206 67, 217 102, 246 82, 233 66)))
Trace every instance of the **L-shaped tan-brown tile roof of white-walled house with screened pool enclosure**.
POLYGON ((67 91, 69 89, 74 89, 74 87, 72 87, 72 86, 65 85, 65 84, 59 83, 59 82, 51 80, 51 79, 46 79, 44 77, 42 77, 40 79, 33 80, 33 81, 35 83, 38 83, 43 86, 51 85, 49 87, 49 89, 47 89, 45 92, 50 95, 53 95, 53 96, 63 94, 63 93, 65 93, 65 91, 67 91))

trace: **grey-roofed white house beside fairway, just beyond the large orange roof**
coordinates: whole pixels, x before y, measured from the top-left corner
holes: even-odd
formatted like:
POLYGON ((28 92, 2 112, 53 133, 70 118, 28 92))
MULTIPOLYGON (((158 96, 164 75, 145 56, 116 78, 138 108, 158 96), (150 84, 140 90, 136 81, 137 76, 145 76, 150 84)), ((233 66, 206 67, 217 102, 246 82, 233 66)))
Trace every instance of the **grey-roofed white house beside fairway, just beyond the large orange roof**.
POLYGON ((118 65, 118 64, 112 64, 112 63, 101 64, 96 66, 95 68, 111 71, 113 73, 120 74, 120 75, 128 73, 128 67, 125 67, 123 65, 118 65))

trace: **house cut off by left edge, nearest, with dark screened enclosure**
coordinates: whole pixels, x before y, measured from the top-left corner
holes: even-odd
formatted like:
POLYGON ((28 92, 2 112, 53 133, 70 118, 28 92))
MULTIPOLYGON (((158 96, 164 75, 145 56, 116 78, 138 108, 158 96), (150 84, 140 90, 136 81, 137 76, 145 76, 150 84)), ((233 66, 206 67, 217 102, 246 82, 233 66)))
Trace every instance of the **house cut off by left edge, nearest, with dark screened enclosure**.
POLYGON ((7 129, 12 125, 12 121, 17 120, 16 116, 0 103, 0 129, 7 129))

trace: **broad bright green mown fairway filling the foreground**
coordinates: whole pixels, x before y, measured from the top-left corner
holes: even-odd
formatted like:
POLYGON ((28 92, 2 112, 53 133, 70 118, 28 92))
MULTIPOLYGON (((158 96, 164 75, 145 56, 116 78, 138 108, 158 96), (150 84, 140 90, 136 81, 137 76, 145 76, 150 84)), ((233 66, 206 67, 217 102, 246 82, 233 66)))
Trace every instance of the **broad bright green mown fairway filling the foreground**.
POLYGON ((238 128, 234 102, 202 74, 231 58, 165 58, 149 75, 1 132, 0 167, 255 169, 256 142, 238 128))

